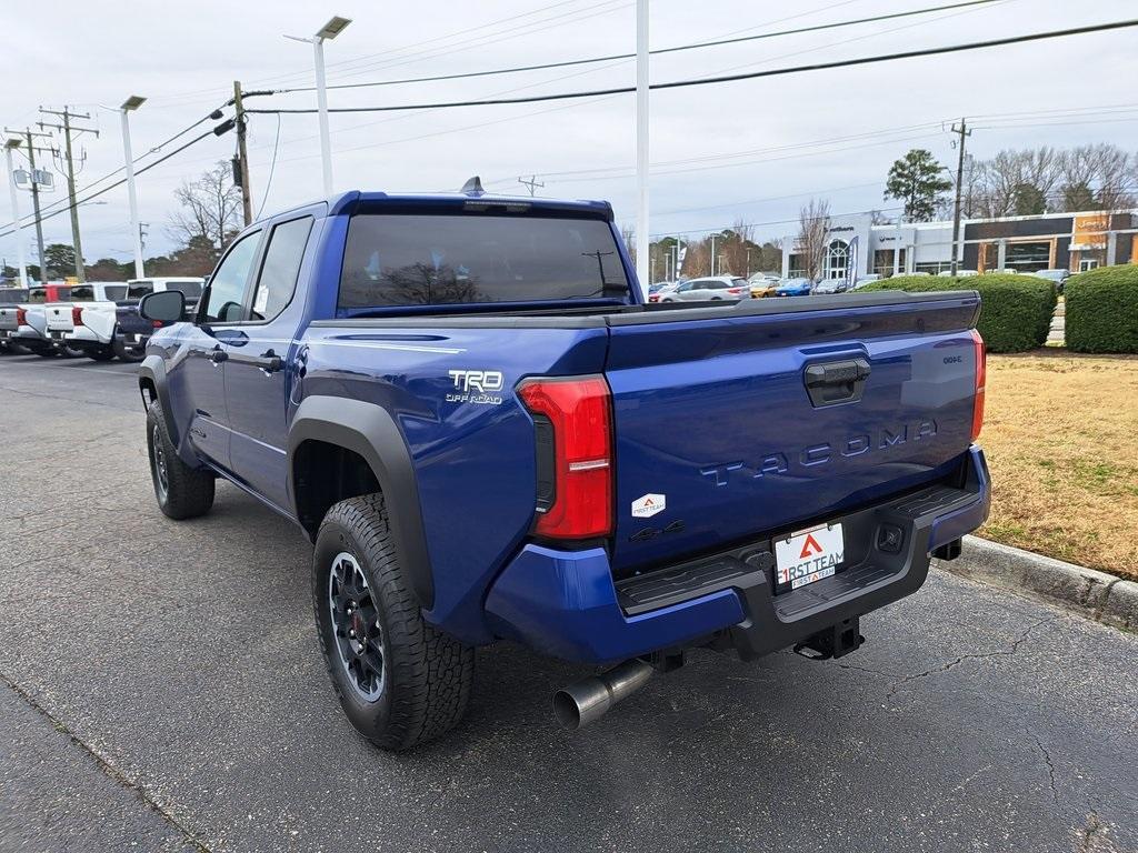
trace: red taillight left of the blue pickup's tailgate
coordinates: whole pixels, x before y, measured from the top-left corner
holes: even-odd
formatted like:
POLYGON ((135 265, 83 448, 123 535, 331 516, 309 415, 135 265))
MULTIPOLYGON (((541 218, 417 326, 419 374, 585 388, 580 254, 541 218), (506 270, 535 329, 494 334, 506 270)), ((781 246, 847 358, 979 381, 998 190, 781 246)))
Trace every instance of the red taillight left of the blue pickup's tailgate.
POLYGON ((534 532, 591 539, 612 532, 612 403, 604 376, 530 379, 518 396, 537 430, 534 532))

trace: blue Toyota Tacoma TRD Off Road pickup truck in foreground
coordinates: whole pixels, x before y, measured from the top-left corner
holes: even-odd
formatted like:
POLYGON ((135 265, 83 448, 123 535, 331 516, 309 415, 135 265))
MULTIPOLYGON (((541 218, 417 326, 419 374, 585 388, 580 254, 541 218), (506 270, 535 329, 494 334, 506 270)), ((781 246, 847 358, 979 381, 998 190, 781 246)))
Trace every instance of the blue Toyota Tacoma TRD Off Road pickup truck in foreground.
POLYGON ((352 723, 407 748, 500 639, 611 666, 831 657, 988 513, 974 292, 646 304, 608 204, 349 192, 246 229, 140 366, 155 494, 314 543, 352 723))

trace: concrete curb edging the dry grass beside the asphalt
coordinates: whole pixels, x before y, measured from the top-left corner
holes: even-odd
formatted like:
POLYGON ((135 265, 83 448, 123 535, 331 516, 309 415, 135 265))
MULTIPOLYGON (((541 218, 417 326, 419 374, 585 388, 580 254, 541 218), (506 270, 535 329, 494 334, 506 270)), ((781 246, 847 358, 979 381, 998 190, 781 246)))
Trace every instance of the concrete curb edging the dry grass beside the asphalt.
POLYGON ((962 578, 1011 589, 1097 622, 1138 631, 1138 583, 975 536, 951 561, 934 564, 962 578))

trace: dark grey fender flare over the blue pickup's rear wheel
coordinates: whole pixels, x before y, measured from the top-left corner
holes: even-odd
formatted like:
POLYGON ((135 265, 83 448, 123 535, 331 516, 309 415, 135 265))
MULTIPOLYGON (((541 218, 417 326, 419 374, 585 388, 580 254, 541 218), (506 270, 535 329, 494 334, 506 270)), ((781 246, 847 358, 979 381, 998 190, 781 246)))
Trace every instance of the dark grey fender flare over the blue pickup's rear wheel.
POLYGON ((292 417, 288 436, 288 494, 300 517, 295 478, 295 454, 308 440, 352 450, 368 463, 387 505, 395 553, 411 588, 424 610, 435 602, 435 582, 423 530, 419 485, 411 452, 387 409, 344 397, 306 397, 292 417))

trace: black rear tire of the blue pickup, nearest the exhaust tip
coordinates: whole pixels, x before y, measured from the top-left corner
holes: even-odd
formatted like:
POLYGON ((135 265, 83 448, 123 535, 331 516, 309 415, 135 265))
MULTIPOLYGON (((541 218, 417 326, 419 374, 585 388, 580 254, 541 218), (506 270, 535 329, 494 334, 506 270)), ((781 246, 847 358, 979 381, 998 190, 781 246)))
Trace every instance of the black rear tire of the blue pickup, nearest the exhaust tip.
POLYGON ((423 620, 395 554, 382 495, 341 500, 328 511, 316 536, 312 591, 332 686, 361 735, 380 748, 403 751, 439 737, 462 719, 473 680, 473 649, 423 620), (343 571, 345 555, 362 571, 364 594, 378 615, 382 677, 374 697, 364 695, 341 657, 345 633, 337 620, 343 623, 344 612, 337 611, 333 620, 331 575, 337 561, 343 571))

